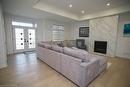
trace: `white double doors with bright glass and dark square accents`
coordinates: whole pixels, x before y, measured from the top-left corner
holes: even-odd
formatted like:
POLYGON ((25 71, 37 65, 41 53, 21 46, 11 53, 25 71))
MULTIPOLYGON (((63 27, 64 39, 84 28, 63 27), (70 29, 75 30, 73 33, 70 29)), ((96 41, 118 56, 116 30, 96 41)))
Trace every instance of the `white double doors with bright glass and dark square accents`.
POLYGON ((35 50, 35 29, 14 27, 14 52, 35 50))

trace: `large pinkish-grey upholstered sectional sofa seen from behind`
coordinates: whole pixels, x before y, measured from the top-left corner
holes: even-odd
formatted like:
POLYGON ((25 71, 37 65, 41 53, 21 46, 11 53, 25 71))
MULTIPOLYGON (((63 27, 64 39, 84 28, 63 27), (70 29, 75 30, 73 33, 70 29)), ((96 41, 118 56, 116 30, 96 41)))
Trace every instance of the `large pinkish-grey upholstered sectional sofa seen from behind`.
POLYGON ((37 57, 80 87, 87 87, 107 67, 107 58, 77 48, 37 45, 37 57))

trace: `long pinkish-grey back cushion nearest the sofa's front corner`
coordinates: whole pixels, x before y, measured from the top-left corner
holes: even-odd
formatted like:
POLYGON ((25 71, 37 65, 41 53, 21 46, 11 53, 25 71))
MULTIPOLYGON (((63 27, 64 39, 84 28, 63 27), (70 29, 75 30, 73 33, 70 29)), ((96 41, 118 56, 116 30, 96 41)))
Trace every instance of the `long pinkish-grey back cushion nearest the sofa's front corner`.
POLYGON ((82 59, 82 60, 87 60, 88 59, 86 58, 88 53, 87 52, 82 52, 82 51, 79 51, 79 50, 75 50, 75 49, 72 49, 72 48, 68 48, 68 47, 64 47, 63 48, 63 51, 65 54, 67 55, 70 55, 70 56, 73 56, 73 57, 76 57, 76 58, 79 58, 79 59, 82 59))

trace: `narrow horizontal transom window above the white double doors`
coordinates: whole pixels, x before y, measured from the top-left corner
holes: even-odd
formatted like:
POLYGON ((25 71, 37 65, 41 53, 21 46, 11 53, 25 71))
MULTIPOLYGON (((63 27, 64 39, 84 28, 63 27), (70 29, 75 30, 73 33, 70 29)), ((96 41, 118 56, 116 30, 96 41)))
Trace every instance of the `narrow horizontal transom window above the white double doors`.
POLYGON ((25 23, 25 22, 17 22, 17 21, 12 21, 13 26, 22 26, 22 27, 37 27, 37 24, 33 23, 25 23))

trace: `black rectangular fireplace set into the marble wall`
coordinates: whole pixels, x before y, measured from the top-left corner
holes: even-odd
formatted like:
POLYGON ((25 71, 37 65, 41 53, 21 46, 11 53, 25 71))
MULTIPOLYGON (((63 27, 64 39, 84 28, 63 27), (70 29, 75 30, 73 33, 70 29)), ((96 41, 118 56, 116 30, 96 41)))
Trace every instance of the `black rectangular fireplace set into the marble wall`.
POLYGON ((107 41, 95 41, 94 52, 106 54, 107 53, 107 41))

